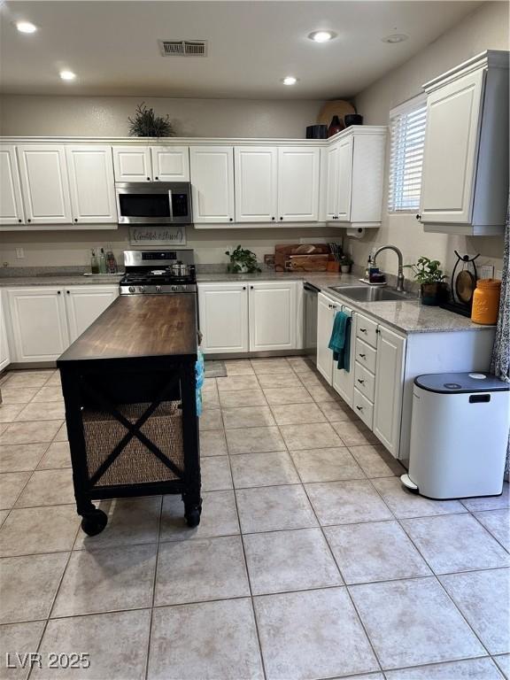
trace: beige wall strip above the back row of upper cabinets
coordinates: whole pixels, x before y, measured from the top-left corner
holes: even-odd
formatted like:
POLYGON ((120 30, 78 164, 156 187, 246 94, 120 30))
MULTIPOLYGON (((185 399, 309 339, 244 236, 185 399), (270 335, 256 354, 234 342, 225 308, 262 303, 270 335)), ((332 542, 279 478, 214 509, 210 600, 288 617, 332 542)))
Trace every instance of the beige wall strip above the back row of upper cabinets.
POLYGON ((144 100, 168 115, 179 136, 305 137, 322 102, 165 97, 0 98, 0 135, 128 135, 128 116, 144 100))

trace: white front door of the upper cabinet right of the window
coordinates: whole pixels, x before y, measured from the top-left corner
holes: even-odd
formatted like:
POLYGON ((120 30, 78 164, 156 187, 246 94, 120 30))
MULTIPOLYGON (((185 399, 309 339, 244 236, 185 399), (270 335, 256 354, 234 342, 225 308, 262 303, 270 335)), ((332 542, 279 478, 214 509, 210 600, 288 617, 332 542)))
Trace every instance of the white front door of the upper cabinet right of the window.
POLYGON ((422 222, 471 220, 484 82, 480 69, 427 98, 422 222))

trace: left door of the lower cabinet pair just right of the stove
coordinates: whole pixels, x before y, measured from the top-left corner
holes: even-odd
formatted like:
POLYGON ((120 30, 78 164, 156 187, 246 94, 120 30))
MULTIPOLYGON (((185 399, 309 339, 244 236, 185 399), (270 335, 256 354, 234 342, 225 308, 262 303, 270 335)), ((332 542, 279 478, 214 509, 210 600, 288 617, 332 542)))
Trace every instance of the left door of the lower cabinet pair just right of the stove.
POLYGON ((247 285, 199 284, 198 320, 205 354, 248 352, 247 285))

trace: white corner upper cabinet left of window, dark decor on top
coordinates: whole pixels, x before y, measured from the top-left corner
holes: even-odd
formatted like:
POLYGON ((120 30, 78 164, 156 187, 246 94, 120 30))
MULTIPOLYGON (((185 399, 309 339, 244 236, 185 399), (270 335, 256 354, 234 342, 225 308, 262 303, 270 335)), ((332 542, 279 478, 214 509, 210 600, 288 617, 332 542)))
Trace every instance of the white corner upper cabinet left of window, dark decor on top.
POLYGON ((324 151, 322 220, 379 227, 383 208, 386 128, 352 126, 324 151))

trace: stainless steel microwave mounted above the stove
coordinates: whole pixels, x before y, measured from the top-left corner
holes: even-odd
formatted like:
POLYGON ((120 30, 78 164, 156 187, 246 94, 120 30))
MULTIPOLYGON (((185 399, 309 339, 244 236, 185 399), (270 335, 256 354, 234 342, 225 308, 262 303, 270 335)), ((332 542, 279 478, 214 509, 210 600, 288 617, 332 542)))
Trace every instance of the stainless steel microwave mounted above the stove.
POLYGON ((189 224, 189 182, 115 182, 119 224, 189 224))

